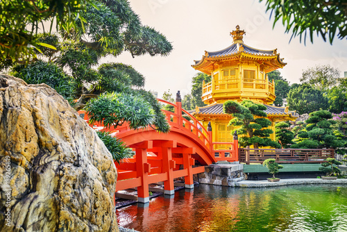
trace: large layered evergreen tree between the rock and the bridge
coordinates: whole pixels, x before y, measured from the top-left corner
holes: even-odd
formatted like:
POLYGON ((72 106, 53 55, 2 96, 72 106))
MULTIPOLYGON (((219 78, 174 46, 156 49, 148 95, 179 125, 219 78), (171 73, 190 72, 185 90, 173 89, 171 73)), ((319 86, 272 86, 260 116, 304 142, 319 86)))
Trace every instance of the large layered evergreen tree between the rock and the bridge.
POLYGON ((78 11, 81 20, 74 21, 69 30, 59 26, 57 35, 35 33, 37 41, 51 45, 41 46, 42 53, 38 53, 48 61, 31 59, 26 67, 13 64, 12 74, 30 83, 46 83, 67 99, 78 99, 73 105, 76 110, 88 104, 92 120, 105 119, 108 126, 114 119, 112 125, 116 126, 128 121, 133 128, 154 124, 158 131, 169 131, 158 101, 140 89, 144 76, 130 65, 100 64, 100 60, 123 51, 133 57, 167 56, 171 43, 154 28, 142 25, 126 0, 83 2, 83 9, 78 11))

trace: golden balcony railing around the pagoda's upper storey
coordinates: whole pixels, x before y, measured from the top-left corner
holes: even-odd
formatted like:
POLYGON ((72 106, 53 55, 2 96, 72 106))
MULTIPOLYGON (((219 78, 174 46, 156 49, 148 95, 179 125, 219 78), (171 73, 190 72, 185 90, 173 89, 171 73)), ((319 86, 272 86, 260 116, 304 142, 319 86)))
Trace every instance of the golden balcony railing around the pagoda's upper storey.
POLYGON ((222 79, 218 81, 210 81, 209 83, 203 83, 203 94, 208 94, 213 90, 228 90, 228 92, 232 91, 240 91, 240 90, 264 90, 266 92, 270 92, 271 94, 275 94, 275 83, 269 82, 262 79, 253 79, 253 78, 242 78, 240 81, 239 78, 228 78, 222 79))

